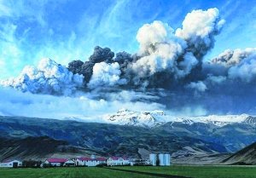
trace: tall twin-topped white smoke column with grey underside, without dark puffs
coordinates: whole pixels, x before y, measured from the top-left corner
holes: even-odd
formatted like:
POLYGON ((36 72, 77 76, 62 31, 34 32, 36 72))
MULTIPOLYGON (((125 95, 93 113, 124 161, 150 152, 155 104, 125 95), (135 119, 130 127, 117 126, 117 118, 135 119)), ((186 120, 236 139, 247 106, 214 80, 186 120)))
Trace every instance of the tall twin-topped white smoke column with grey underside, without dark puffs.
POLYGON ((180 83, 178 79, 199 71, 202 57, 214 46, 214 37, 223 25, 218 9, 192 11, 176 32, 160 21, 144 25, 137 32, 141 58, 131 64, 134 83, 146 79, 149 86, 155 87, 159 85, 154 83, 155 76, 180 83))

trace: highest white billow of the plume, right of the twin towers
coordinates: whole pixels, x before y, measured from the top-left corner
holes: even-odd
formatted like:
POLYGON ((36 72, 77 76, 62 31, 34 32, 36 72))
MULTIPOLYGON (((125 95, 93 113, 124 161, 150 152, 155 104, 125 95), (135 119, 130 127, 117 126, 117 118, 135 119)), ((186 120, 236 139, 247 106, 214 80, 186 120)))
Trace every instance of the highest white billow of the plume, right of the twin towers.
POLYGON ((183 20, 183 28, 178 28, 175 35, 183 38, 188 45, 188 51, 197 59, 201 59, 214 46, 214 37, 224 25, 218 14, 218 9, 193 10, 183 20))

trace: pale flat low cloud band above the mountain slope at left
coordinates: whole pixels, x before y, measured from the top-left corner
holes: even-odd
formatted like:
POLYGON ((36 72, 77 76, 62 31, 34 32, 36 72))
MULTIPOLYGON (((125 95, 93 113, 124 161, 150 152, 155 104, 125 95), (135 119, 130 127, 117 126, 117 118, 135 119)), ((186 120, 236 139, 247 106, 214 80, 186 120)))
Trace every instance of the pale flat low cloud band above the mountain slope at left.
POLYGON ((95 117, 116 112, 121 108, 139 110, 157 110, 164 106, 158 103, 145 103, 129 100, 91 99, 91 95, 53 96, 21 93, 15 89, 0 88, 0 113, 9 116, 25 116, 36 118, 92 118, 93 122, 101 122, 95 117))

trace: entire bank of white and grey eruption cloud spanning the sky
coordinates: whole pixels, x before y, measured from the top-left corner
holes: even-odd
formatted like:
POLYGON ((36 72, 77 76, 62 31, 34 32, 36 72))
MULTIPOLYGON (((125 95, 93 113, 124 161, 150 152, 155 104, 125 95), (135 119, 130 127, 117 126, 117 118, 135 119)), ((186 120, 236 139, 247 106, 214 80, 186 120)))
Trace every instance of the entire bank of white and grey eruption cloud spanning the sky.
MULTIPOLYGON (((193 10, 177 30, 156 20, 138 30, 135 55, 114 55, 97 46, 87 61, 73 60, 66 68, 42 60, 38 68, 26 66, 18 78, 2 84, 33 94, 71 95, 79 89, 104 100, 110 100, 106 92, 112 97, 143 91, 172 110, 193 105, 214 113, 253 112, 256 101, 241 100, 256 96, 256 49, 227 49, 212 60, 204 59, 224 22, 218 9, 193 10)), ((132 101, 145 98, 137 95, 132 101)))

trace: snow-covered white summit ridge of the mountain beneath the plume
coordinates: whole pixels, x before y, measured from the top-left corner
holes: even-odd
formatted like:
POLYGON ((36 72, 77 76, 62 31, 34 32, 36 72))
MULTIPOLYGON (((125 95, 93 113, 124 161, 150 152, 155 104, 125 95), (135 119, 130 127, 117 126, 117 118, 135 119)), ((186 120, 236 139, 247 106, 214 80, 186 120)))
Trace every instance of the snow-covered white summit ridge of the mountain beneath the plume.
POLYGON ((120 125, 135 125, 143 127, 155 127, 164 123, 207 123, 217 127, 223 127, 232 123, 245 123, 256 126, 256 117, 241 114, 241 115, 210 115, 204 117, 174 117, 166 114, 163 111, 151 111, 151 112, 135 112, 127 109, 121 109, 116 113, 103 116, 103 120, 107 123, 114 123, 120 125))

